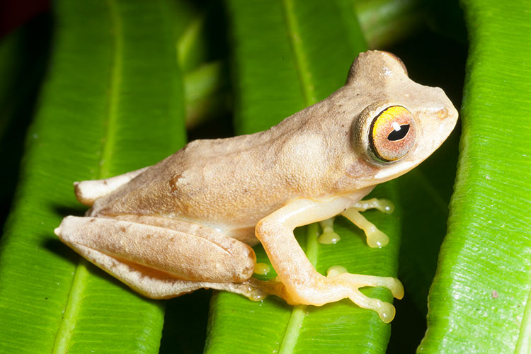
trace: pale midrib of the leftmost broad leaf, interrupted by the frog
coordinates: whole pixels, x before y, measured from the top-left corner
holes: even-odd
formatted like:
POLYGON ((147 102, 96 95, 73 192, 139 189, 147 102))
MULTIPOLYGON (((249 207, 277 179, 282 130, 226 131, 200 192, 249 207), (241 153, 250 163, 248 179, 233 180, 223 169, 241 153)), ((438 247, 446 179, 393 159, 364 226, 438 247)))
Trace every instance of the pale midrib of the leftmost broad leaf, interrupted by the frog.
MULTIPOLYGON (((111 32, 114 39, 114 55, 110 75, 110 93, 105 130, 105 139, 103 139, 103 149, 100 157, 100 164, 98 175, 96 178, 101 179, 109 176, 110 159, 115 144, 116 120, 118 119, 118 96, 120 93, 120 84, 122 76, 122 58, 123 58, 123 35, 122 35, 122 19, 118 13, 118 5, 116 0, 107 0, 107 5, 110 15, 111 27, 114 31, 111 32)), ((88 262, 84 258, 79 258, 79 264, 76 266, 72 286, 69 290, 67 304, 64 309, 64 316, 62 317, 59 330, 55 338, 55 343, 52 348, 52 354, 67 353, 67 349, 74 333, 76 326, 76 319, 81 310, 81 299, 86 290, 86 282, 89 278, 89 270, 87 268, 88 262)))

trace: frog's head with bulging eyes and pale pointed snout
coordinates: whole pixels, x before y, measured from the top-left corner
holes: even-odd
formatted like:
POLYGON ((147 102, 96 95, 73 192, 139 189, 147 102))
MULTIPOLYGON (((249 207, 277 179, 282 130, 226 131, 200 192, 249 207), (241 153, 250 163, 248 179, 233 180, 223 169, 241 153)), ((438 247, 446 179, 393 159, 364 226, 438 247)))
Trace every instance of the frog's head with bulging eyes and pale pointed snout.
POLYGON ((382 183, 413 169, 440 147, 457 122, 444 91, 409 79, 401 60, 388 52, 360 54, 346 89, 372 92, 352 125, 358 164, 363 161, 365 172, 372 171, 352 176, 362 184, 382 183))

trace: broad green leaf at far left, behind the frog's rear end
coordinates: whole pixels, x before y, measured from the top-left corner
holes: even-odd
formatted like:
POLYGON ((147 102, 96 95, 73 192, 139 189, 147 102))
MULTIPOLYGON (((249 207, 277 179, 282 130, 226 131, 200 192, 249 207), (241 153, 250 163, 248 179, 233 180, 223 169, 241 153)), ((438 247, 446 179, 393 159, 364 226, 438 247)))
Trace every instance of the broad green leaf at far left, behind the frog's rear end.
POLYGON ((50 71, 0 244, 0 351, 154 353, 160 302, 63 246, 72 182, 153 164, 185 141, 169 1, 57 1, 50 71), (13 325, 16 324, 16 325, 13 325))

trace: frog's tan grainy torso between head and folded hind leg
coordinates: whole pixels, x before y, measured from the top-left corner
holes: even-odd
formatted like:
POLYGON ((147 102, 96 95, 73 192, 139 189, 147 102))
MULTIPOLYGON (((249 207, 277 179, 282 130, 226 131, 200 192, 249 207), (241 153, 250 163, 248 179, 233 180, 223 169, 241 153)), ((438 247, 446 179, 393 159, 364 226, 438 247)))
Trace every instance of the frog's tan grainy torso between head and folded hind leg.
POLYGON ((358 163, 348 154, 352 118, 343 110, 344 119, 333 120, 341 106, 329 102, 321 101, 264 132, 190 142, 96 200, 91 215, 186 219, 256 244, 258 221, 290 200, 358 190, 355 178, 349 185, 342 179, 348 166, 358 163), (324 115, 329 122, 314 119, 324 115), (324 139, 323 123, 335 139, 324 139))

